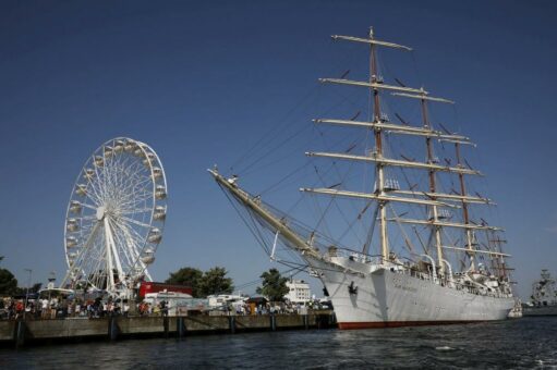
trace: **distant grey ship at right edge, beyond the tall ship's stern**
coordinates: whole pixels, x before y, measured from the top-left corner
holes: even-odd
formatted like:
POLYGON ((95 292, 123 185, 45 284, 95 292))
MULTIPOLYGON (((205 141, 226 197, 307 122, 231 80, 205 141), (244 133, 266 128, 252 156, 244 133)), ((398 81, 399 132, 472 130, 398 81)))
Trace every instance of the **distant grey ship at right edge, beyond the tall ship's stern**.
POLYGON ((557 287, 546 269, 542 270, 541 279, 532 284, 530 298, 530 304, 524 306, 524 316, 557 316, 557 287))

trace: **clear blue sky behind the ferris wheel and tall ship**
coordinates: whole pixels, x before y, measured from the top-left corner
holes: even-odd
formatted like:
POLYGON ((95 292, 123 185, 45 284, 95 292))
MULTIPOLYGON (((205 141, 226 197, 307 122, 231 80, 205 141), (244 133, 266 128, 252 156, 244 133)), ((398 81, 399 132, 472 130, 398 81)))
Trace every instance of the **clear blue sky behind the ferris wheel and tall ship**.
MULTIPOLYGON (((1 266, 22 285, 25 268, 62 278, 75 176, 128 136, 158 152, 169 183, 154 278, 223 266, 237 285, 257 279, 274 264, 205 170, 237 164, 284 120, 311 125, 306 97, 347 58, 329 35, 373 25, 415 49, 403 72, 458 102, 526 296, 542 268, 557 273, 556 16, 552 1, 2 1, 1 266)), ((289 164, 245 185, 265 188, 289 164)))

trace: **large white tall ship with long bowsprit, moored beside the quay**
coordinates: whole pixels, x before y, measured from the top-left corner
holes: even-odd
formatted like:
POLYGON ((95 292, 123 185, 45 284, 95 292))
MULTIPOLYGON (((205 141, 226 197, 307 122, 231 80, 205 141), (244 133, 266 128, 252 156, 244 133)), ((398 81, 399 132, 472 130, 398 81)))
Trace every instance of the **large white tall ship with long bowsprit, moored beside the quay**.
POLYGON ((431 114, 433 106, 453 101, 399 78, 386 82, 379 49, 412 49, 377 39, 373 28, 364 37, 332 39, 367 49, 365 77, 348 79, 347 71, 319 83, 360 89, 367 118, 358 112, 313 120, 337 130, 335 137, 356 137, 343 150, 305 153, 320 184, 300 188, 320 201, 315 224, 246 192, 239 175, 225 176, 216 165, 208 171, 271 259, 279 249, 294 251, 323 282, 340 329, 506 319, 514 305, 510 256, 501 248, 502 229, 482 213, 494 201, 471 185, 483 176, 464 157, 475 145, 431 114), (395 112, 389 101, 410 104, 417 123, 395 112), (322 163, 328 170, 318 168, 322 163))

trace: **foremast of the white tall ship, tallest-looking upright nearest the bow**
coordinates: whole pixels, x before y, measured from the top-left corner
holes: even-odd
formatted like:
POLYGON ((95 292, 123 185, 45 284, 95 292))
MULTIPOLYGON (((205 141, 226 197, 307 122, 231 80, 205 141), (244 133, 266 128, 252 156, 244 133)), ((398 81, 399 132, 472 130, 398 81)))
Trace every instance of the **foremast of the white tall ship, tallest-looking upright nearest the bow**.
MULTIPOLYGON (((370 27, 370 84, 373 86, 378 83, 377 79, 377 57, 376 57, 376 47, 373 42, 373 27, 370 27)), ((380 122, 382 120, 382 109, 379 101, 379 89, 377 87, 373 88, 373 121, 380 122)), ((383 158, 383 133, 380 128, 374 128, 375 136, 375 153, 376 157, 383 158)), ((376 162, 375 165, 377 178, 376 178, 376 189, 378 195, 385 196, 385 168, 382 162, 376 162)), ((389 255, 389 240, 387 238, 387 208, 386 201, 379 200, 379 230, 380 230, 380 246, 382 246, 382 260, 385 263, 388 259, 389 255)))

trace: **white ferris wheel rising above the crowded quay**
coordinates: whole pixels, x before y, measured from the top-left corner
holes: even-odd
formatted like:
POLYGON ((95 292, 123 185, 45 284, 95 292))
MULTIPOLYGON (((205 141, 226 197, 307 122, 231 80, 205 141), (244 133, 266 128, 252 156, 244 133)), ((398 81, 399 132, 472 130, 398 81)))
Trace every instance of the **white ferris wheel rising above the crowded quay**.
POLYGON ((87 159, 70 196, 62 287, 129 295, 152 281, 147 267, 167 217, 162 163, 148 145, 118 137, 87 159))

